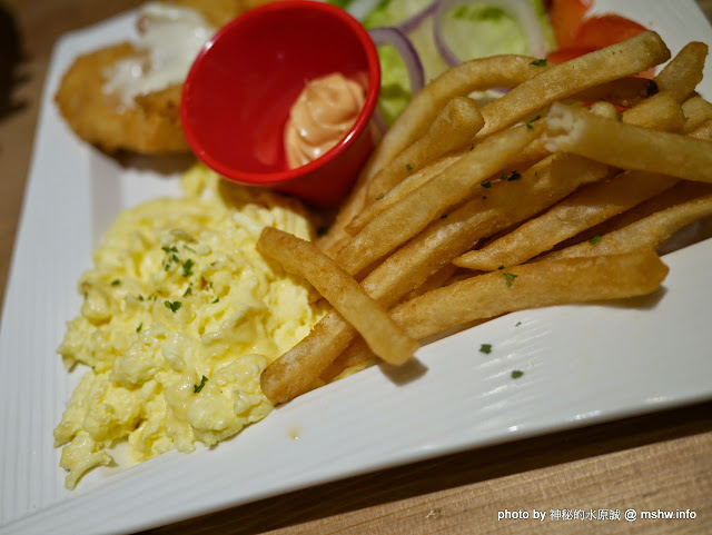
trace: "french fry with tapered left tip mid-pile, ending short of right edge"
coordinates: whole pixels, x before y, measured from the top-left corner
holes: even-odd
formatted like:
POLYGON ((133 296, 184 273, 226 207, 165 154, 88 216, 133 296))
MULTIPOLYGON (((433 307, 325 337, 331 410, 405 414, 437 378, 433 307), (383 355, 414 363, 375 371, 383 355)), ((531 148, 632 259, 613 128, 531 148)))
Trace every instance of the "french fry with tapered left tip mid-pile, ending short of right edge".
POLYGON ((678 181, 673 177, 643 171, 621 174, 613 180, 576 191, 542 216, 453 262, 482 271, 523 264, 564 239, 656 196, 678 181))

